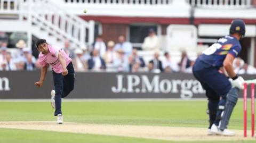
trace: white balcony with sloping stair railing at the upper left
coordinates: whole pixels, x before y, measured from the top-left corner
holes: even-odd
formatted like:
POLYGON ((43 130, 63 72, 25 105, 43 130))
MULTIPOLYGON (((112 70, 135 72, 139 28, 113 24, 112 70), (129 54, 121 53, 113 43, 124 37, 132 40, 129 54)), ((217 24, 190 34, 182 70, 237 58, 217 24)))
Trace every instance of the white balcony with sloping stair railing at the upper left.
POLYGON ((94 41, 94 21, 69 14, 48 0, 1 0, 0 23, 0 31, 26 32, 28 46, 32 35, 53 45, 69 40, 74 47, 82 47, 94 41))

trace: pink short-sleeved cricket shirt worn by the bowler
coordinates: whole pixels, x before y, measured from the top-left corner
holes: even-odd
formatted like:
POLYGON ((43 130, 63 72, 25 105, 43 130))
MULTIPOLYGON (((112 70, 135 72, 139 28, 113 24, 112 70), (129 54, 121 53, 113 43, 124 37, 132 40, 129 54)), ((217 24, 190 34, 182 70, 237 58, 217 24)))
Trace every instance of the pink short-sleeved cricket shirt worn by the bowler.
POLYGON ((62 56, 66 61, 66 66, 71 62, 71 58, 68 56, 68 54, 65 51, 63 51, 59 47, 48 45, 48 48, 49 48, 49 52, 46 55, 40 52, 38 57, 39 64, 41 64, 42 66, 45 66, 47 63, 51 64, 52 70, 55 73, 62 73, 62 66, 58 59, 59 52, 62 53, 62 56))

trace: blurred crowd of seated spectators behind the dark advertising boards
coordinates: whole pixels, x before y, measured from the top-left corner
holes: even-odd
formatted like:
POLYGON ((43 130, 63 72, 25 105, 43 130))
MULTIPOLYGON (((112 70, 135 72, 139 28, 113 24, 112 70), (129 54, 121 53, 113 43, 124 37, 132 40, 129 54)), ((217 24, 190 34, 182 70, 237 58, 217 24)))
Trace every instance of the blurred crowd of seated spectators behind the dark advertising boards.
MULTIPOLYGON (((46 39, 47 41, 47 39, 46 39)), ((0 71, 40 69, 35 56, 25 41, 19 40, 15 45, 15 52, 7 52, 7 43, 1 43, 0 48, 0 71)), ((63 45, 64 51, 71 57, 74 68, 78 72, 85 71, 107 71, 107 72, 150 72, 150 73, 172 73, 183 72, 192 73, 193 60, 190 60, 186 51, 181 52, 180 61, 174 61, 168 52, 159 58, 160 44, 159 38, 153 29, 149 30, 148 37, 142 44, 143 51, 151 51, 152 59, 147 63, 143 56, 138 55, 137 48, 133 48, 125 36, 118 37, 118 43, 114 41, 104 41, 102 36, 98 36, 93 45, 89 47, 72 48, 69 41, 63 45)), ((51 69, 51 68, 49 68, 51 69)), ((253 66, 244 63, 241 58, 234 61, 234 69, 238 74, 256 74, 253 66)))

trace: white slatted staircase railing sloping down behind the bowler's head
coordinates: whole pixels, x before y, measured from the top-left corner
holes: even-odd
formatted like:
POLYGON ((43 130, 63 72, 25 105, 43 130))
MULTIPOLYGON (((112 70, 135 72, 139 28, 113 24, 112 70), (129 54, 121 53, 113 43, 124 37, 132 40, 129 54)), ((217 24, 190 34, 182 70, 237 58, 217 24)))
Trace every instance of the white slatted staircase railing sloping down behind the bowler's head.
POLYGON ((69 40, 75 47, 92 44, 94 41, 93 21, 86 22, 76 15, 69 14, 51 1, 0 0, 0 13, 15 14, 17 18, 19 16, 19 21, 28 22, 31 27, 37 26, 42 32, 54 36, 57 41, 69 40))

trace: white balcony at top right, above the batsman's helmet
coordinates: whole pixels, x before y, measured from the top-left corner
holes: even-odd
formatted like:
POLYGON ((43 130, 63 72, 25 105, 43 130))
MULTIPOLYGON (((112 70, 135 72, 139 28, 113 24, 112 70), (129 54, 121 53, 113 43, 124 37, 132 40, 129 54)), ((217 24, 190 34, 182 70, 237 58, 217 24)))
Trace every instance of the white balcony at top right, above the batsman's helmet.
POLYGON ((256 19, 252 0, 187 0, 195 8, 195 18, 256 19))

